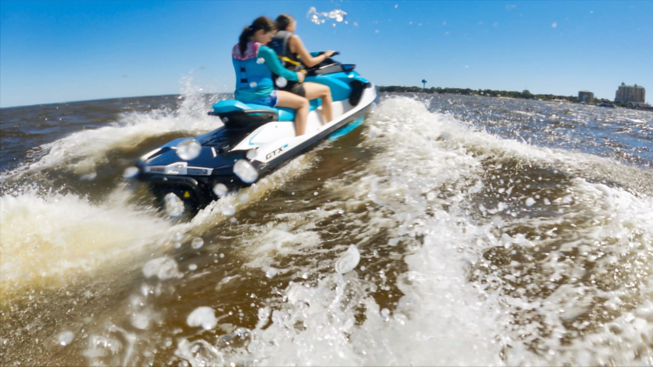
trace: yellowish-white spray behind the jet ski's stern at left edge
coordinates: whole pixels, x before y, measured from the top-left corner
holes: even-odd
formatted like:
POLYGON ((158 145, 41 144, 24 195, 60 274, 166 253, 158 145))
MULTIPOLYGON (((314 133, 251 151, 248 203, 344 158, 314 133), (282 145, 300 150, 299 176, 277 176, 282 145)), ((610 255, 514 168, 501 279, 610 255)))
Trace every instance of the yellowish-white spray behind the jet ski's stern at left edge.
POLYGON ((37 190, 0 198, 3 293, 25 284, 65 283, 142 251, 170 225, 119 198, 92 204, 37 190))

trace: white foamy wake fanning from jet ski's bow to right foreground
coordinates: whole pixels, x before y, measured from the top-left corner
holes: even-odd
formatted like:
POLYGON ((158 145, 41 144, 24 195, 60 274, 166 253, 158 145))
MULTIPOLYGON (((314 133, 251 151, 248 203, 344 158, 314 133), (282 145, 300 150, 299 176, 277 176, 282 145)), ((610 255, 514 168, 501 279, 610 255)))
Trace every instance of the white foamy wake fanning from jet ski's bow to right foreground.
MULTIPOLYGON (((287 304, 270 315, 271 325, 252 330, 253 342, 248 350, 253 359, 263 365, 650 364, 653 351, 646 344, 653 336, 653 306, 646 298, 652 289, 648 266, 653 261, 650 198, 574 179, 569 199, 561 198, 559 203, 568 205, 569 213, 553 220, 563 221, 568 215, 587 216, 592 222, 587 228, 575 229, 581 233, 580 242, 568 242, 558 252, 580 246, 581 252, 596 252, 596 256, 581 256, 573 265, 560 262, 559 254, 549 254, 540 263, 544 276, 558 280, 562 274, 586 274, 588 269, 583 269, 582 259, 596 261, 596 270, 606 275, 614 265, 622 264, 622 272, 628 272, 634 282, 634 291, 627 287, 605 291, 599 286, 572 285, 558 287, 541 299, 520 297, 520 293, 511 293, 508 282, 515 276, 496 271, 470 274, 470 270, 486 263, 483 255, 490 248, 537 248, 546 242, 527 239, 520 233, 505 233, 501 220, 479 221, 470 216, 468 205, 483 188, 480 174, 485 156, 468 147, 540 163, 564 161, 569 167, 602 158, 542 149, 470 131, 453 117, 429 113, 419 102, 402 98, 385 101, 373 120, 371 124, 380 134, 372 136, 368 143, 382 145, 387 151, 377 154, 357 173, 346 173, 347 182, 332 179, 325 186, 342 198, 342 207, 355 209, 372 201, 387 209, 382 214, 370 214, 370 232, 360 237, 381 226, 390 228, 394 236, 391 242, 423 237, 422 245, 413 247, 412 254, 404 257, 408 271, 396 281, 404 297, 394 310, 381 310, 369 297, 374 285, 353 278, 355 273, 330 275, 313 286, 292 283, 283 292, 287 304), (420 140, 422 144, 415 143, 420 140), (450 194, 429 195, 443 184, 451 185, 450 194), (601 243, 598 248, 594 247, 597 242, 601 243), (470 280, 470 276, 477 280, 470 280), (618 316, 594 321, 599 327, 593 332, 575 336, 571 346, 561 345, 565 335, 574 336, 567 334, 570 331, 565 323, 596 303, 596 297, 605 297, 605 307, 609 312, 618 310, 618 316), (639 301, 633 303, 633 297, 639 301), (633 309, 624 311, 620 308, 623 302, 630 302, 633 309), (361 308, 365 321, 357 325, 356 315, 361 308), (520 317, 524 310, 535 314, 520 317)), ((286 214, 287 219, 290 216, 286 214)), ((356 220, 353 214, 349 216, 356 220)), ((302 222, 300 218, 295 220, 302 222)), ((316 218, 304 218, 303 222, 311 220, 315 222, 316 218)), ((535 228, 542 226, 542 219, 535 221, 535 228)), ((528 224, 528 218, 524 224, 528 224)), ((270 230, 269 238, 259 242, 263 251, 259 254, 269 253, 270 248, 283 249, 284 243, 306 243, 294 238, 300 233, 270 230)), ((261 261, 248 265, 261 266, 261 261)), ((511 267, 517 264, 506 268, 513 271, 511 267)), ((519 276, 518 271, 514 274, 519 276)), ((543 280, 543 286, 549 282, 549 278, 543 280)), ((259 326, 266 323, 260 321, 259 326)))

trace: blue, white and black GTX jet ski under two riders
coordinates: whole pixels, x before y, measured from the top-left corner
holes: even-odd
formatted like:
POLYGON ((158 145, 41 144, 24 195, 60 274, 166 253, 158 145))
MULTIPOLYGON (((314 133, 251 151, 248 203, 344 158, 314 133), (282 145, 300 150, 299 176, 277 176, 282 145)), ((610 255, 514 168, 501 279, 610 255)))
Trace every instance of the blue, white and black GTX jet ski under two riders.
POLYGON ((227 192, 255 183, 320 141, 360 125, 379 96, 374 84, 354 68, 353 64, 327 58, 305 69, 304 81, 330 87, 334 119, 322 121, 320 100, 311 100, 302 136, 295 136, 293 109, 221 100, 208 112, 215 116, 216 123, 221 123, 219 128, 195 138, 174 139, 144 154, 136 162, 137 170, 129 176, 148 184, 171 216, 194 215, 227 192))

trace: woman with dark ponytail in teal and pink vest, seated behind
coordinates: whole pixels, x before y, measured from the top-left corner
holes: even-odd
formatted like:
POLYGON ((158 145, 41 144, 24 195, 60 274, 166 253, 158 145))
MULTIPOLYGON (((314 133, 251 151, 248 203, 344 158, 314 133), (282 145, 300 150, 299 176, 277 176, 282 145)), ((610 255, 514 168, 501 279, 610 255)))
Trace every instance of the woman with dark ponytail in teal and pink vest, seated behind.
POLYGON ((236 71, 234 96, 245 103, 295 109, 295 135, 300 136, 306 130, 308 99, 288 91, 276 91, 272 72, 292 81, 304 81, 304 74, 284 68, 274 50, 265 46, 275 31, 274 22, 264 16, 256 18, 243 29, 238 43, 231 51, 236 71))

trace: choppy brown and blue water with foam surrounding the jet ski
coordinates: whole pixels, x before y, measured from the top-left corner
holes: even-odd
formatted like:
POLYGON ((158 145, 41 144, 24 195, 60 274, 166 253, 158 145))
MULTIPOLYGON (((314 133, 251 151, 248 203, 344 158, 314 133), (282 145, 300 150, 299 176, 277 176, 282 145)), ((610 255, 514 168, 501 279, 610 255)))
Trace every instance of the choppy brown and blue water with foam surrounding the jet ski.
POLYGON ((0 364, 653 364, 653 113, 383 95, 170 220, 125 172, 219 98, 0 110, 0 364))

